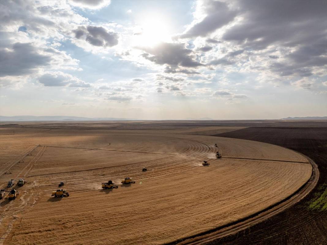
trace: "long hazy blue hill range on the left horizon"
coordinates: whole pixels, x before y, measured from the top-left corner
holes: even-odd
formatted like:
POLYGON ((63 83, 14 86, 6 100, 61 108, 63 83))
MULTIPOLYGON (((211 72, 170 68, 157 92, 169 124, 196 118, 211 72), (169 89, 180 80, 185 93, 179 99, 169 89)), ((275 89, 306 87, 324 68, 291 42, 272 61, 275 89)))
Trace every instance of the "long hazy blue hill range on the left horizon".
POLYGON ((18 121, 123 121, 137 120, 132 118, 115 118, 115 117, 79 117, 79 116, 0 116, 1 122, 18 122, 18 121))

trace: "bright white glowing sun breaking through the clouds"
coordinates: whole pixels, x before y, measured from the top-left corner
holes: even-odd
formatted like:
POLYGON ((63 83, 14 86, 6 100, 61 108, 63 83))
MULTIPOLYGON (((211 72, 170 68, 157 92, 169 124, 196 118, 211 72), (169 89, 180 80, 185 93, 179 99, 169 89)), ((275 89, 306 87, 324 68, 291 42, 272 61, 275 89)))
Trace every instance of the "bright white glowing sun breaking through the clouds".
POLYGON ((169 42, 169 24, 161 16, 146 16, 136 28, 134 41, 139 46, 155 46, 161 42, 169 42))

